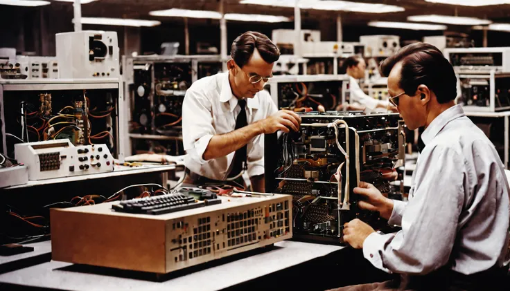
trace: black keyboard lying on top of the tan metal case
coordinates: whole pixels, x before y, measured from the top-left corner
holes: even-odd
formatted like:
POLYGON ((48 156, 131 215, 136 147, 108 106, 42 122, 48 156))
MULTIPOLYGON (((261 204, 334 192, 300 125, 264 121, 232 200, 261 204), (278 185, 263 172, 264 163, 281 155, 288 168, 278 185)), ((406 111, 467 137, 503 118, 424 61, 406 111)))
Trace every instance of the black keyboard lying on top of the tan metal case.
POLYGON ((206 200, 203 202, 184 194, 165 194, 124 200, 120 204, 112 205, 112 209, 118 212, 157 215, 221 203, 221 200, 216 200, 206 200))

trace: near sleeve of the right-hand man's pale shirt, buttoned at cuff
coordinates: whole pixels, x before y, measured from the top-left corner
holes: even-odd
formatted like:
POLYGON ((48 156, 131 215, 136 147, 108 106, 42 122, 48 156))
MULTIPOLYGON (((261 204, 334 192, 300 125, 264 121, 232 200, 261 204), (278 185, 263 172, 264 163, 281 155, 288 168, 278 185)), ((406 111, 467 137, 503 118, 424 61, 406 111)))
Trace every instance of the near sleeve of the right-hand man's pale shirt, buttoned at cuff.
MULTIPOLYGON (((423 151, 422 155, 425 154, 423 151)), ((363 243, 364 256, 386 272, 427 274, 446 265, 452 252, 464 204, 464 158, 455 150, 430 149, 416 169, 414 197, 402 207, 396 203, 392 220, 396 234, 371 234, 363 243)))

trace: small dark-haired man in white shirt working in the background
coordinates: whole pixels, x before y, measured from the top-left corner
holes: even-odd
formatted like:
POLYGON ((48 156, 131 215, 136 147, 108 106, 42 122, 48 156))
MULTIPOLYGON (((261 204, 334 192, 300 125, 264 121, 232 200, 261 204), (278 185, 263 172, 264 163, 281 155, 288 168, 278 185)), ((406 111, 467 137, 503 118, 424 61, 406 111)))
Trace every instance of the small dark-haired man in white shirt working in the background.
MULTIPOLYGON (((368 113, 370 112, 385 112, 385 111, 396 111, 395 106, 390 104, 387 100, 376 100, 373 97, 365 94, 363 90, 360 88, 360 84, 358 83, 358 79, 362 79, 365 77, 365 71, 367 69, 367 64, 365 64, 364 59, 359 57, 358 55, 353 55, 352 57, 348 57, 344 60, 343 63, 346 74, 349 75, 349 89, 351 93, 351 100, 349 104, 351 108, 364 110, 368 113)), ((342 105, 342 104, 341 104, 342 105)), ((343 106, 340 106, 341 109, 343 106)), ((339 110, 337 109, 337 110, 339 110)))

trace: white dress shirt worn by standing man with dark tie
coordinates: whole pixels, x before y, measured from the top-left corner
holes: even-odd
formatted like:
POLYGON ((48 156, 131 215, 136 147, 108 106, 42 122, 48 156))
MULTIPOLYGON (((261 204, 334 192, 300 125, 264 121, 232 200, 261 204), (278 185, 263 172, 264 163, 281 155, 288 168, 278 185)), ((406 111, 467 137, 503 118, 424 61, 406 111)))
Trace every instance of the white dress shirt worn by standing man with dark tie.
MULTIPOLYGON (((182 104, 182 138, 187 155, 184 165, 191 171, 216 180, 225 180, 231 171, 234 152, 225 157, 204 160, 203 155, 213 135, 236 129, 240 112, 232 94, 229 73, 218 73, 193 83, 182 104)), ((270 94, 263 90, 246 102, 247 122, 252 124, 276 113, 270 94)), ((264 173, 264 138, 258 135, 247 146, 248 176, 264 173)))

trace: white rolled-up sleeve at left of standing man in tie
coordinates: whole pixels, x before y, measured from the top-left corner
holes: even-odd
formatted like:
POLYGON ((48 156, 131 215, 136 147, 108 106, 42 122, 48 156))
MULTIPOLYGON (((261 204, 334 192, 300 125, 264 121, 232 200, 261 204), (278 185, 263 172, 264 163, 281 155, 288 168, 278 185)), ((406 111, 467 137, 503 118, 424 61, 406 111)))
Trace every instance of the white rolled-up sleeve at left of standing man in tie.
POLYGON ((212 105, 205 93, 186 91, 182 104, 182 142, 188 158, 201 165, 207 162, 204 152, 216 134, 211 111, 212 105))

